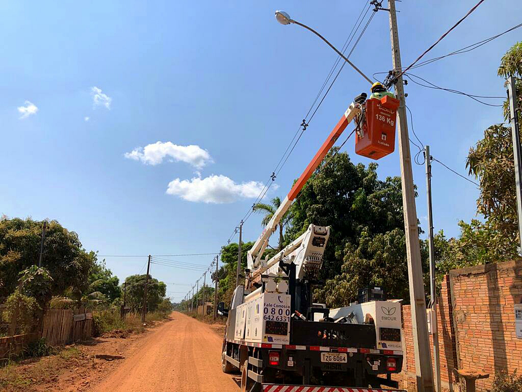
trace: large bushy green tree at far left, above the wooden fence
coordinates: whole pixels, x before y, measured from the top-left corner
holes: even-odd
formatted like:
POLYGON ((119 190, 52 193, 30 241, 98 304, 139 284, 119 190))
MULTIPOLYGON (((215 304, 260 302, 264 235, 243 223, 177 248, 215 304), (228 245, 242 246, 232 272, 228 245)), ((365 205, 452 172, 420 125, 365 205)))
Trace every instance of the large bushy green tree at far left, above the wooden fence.
MULTIPOLYGON (((42 222, 30 218, 0 220, 0 296, 13 293, 18 285, 18 273, 38 263, 41 234, 42 222)), ((52 295, 61 295, 69 288, 85 290, 95 261, 96 254, 82 248, 75 232, 56 221, 48 222, 42 266, 53 279, 52 295)))

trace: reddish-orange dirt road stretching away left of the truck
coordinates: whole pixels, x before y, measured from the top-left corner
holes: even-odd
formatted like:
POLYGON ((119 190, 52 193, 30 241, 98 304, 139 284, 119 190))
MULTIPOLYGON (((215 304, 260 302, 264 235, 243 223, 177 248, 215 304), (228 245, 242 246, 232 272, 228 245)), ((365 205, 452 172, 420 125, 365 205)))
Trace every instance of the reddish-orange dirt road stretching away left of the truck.
POLYGON ((181 313, 137 342, 94 392, 239 392, 221 372, 222 339, 208 325, 181 313))

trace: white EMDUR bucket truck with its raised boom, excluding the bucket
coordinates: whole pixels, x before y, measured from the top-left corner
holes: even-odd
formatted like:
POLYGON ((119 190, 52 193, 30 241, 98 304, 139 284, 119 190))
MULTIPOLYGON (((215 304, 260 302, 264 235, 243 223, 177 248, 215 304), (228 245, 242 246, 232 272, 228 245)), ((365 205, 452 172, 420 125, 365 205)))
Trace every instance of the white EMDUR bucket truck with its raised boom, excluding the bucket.
POLYGON ((362 131, 364 106, 364 98, 351 103, 248 250, 245 285, 236 287, 228 309, 218 305, 228 317, 222 369, 241 372, 244 391, 383 392, 392 389, 382 385, 398 386, 392 374, 402 370, 399 301, 370 297, 337 309, 313 301, 328 226, 311 224, 275 256, 263 258, 281 217, 347 125, 355 119, 362 131))

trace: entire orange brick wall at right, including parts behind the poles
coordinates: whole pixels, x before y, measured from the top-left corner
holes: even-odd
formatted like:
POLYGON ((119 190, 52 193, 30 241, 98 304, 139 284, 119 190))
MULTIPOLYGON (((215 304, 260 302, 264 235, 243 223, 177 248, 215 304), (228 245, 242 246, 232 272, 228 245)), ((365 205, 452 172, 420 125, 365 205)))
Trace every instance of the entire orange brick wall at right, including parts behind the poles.
MULTIPOLYGON (((445 276, 437 308, 443 392, 455 390, 454 368, 490 373, 477 381, 477 392, 491 388, 497 371, 520 372, 522 339, 515 333, 515 303, 522 303, 522 260, 462 268, 445 276)), ((414 391, 409 305, 402 307, 402 315, 405 367, 400 381, 414 391)))

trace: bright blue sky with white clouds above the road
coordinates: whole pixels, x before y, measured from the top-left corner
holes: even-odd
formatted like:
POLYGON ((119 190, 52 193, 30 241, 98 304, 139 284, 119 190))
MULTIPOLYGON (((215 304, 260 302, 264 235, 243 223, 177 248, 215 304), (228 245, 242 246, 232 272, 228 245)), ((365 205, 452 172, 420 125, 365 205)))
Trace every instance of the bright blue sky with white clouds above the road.
MULTIPOLYGON (((397 3, 403 64, 474 3, 397 3)), ((341 47, 364 4, 0 3, 0 213, 58 220, 100 255, 217 252, 252 205, 258 183, 271 174, 336 59, 310 32, 279 25, 274 10, 288 11, 341 47), (153 146, 143 149, 148 145, 153 146)), ((484 2, 427 58, 518 24, 521 10, 514 0, 484 2)), ((413 73, 442 87, 505 96, 496 68, 521 31, 413 73)), ((384 11, 350 59, 369 75, 391 68, 384 11)), ((277 177, 279 189, 270 189, 268 197, 284 197, 353 97, 368 87, 351 68, 343 69, 277 177)), ((469 147, 484 128, 502 122, 501 110, 411 83, 406 91, 421 141, 465 174, 469 147)), ((354 162, 369 163, 354 154, 352 140, 344 148, 354 162)), ((381 178, 400 174, 398 149, 378 163, 381 178)), ((413 170, 425 228, 424 168, 413 170)), ((475 216, 477 197, 471 183, 434 163, 436 230, 458 235, 457 222, 475 216)), ((260 218, 251 217, 244 239, 256 238, 261 229, 260 218)), ((212 256, 172 259, 208 266, 212 256)), ((106 257, 120 279, 138 273, 145 262, 106 257)), ((157 265, 151 273, 185 284, 201 274, 157 265)), ((188 288, 169 285, 168 291, 188 288)))

